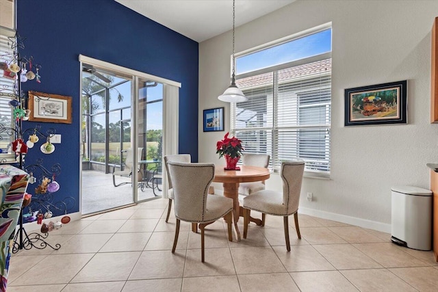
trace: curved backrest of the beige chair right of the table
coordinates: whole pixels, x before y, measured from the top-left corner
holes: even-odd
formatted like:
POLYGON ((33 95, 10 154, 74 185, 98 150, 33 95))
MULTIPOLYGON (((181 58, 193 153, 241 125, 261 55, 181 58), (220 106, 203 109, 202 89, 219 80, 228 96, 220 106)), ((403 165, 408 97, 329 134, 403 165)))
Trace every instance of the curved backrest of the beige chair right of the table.
POLYGON ((300 202, 302 176, 305 162, 300 159, 281 163, 281 178, 283 179, 283 204, 287 212, 298 210, 300 202))

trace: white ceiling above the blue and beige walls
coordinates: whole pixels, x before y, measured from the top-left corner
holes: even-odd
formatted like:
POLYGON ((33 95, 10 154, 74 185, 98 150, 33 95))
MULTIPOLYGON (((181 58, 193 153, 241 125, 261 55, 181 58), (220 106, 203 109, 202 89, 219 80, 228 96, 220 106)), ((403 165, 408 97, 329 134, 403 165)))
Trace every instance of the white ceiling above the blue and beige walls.
MULTIPOLYGON (((196 42, 233 28, 231 0, 115 0, 196 42)), ((236 0, 235 27, 296 0, 236 0)))

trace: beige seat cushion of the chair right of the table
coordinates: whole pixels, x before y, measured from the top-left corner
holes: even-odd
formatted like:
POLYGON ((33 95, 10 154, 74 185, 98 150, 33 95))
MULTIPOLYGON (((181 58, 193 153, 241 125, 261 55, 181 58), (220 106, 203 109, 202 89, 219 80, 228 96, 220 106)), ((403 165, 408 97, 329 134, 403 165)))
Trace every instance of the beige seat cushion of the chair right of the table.
POLYGON ((286 205, 283 204, 283 194, 268 189, 246 196, 243 207, 276 216, 287 216, 296 212, 296 210, 287 210, 286 205))

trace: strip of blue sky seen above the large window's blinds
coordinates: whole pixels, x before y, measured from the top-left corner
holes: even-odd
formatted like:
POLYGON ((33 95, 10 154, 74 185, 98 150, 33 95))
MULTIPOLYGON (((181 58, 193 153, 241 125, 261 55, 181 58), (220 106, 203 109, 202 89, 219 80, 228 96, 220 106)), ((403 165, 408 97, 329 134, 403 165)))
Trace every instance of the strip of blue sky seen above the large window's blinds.
POLYGON ((331 29, 236 58, 236 75, 331 51, 331 29))

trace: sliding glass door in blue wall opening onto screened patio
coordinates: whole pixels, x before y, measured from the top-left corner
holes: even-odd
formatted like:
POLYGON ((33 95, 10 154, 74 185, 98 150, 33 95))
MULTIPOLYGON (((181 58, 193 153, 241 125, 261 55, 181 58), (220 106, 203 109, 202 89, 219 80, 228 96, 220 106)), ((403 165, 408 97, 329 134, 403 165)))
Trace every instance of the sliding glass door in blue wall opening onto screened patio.
POLYGON ((81 213, 166 196, 162 161, 178 152, 181 84, 83 55, 79 61, 81 213))

